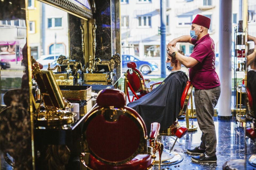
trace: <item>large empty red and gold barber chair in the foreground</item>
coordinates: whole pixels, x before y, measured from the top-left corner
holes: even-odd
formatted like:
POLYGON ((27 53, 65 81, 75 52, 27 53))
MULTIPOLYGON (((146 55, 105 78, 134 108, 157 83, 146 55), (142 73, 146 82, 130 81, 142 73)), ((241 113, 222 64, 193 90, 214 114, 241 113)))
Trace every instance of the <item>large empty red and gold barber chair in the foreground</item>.
MULTIPOLYGON (((159 123, 151 124, 150 146, 146 126, 139 114, 126 107, 125 94, 105 89, 97 97, 98 107, 84 118, 81 162, 93 170, 146 170, 160 158, 162 143, 157 141, 159 123)), ((160 169, 160 167, 159 167, 160 169)))

